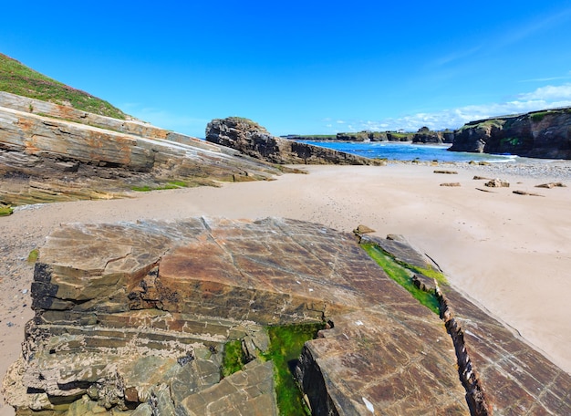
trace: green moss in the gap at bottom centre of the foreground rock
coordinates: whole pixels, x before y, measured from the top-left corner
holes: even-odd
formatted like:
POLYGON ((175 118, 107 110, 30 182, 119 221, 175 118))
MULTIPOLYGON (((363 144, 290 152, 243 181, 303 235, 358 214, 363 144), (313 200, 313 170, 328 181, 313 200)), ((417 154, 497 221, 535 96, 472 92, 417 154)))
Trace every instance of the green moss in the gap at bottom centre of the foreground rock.
POLYGON ((265 359, 274 361, 275 393, 281 416, 311 414, 296 385, 293 369, 306 341, 316 338, 317 331, 323 328, 322 323, 267 328, 270 348, 265 359))

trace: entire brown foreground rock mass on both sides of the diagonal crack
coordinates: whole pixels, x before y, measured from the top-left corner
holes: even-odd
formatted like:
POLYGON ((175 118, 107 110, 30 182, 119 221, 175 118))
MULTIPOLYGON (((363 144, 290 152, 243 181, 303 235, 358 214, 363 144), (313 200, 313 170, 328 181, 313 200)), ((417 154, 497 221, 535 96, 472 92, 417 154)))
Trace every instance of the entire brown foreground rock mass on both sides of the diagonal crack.
MULTIPOLYGON (((430 266, 391 238, 362 237, 430 266)), ((441 293, 446 326, 354 236, 320 224, 64 224, 40 249, 36 317, 3 392, 22 415, 277 414, 265 327, 327 322, 296 367, 313 414, 571 411, 569 375, 441 293), (251 359, 221 378, 230 340, 251 359)))

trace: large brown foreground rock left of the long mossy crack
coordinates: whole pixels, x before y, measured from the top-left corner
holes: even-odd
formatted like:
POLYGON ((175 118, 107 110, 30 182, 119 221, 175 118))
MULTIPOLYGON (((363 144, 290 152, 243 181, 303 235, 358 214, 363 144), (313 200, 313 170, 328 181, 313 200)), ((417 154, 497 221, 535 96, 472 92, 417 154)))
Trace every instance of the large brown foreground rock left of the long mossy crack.
MULTIPOLYGON (((320 374, 331 383, 325 400, 338 406, 357 400, 362 410, 365 397, 389 409, 380 392, 387 386, 437 383, 428 391, 395 390, 395 411, 428 400, 467 412, 439 318, 390 280, 350 235, 319 224, 64 225, 40 251, 32 296, 36 317, 26 327, 24 357, 5 380, 5 397, 21 410, 48 410, 58 398, 77 401, 87 393, 99 406, 126 409, 134 390, 157 411, 174 403, 175 411, 192 414, 202 402, 212 405, 212 414, 231 405, 239 414, 271 410, 271 376, 247 369, 219 382, 213 378, 219 353, 203 351, 221 351, 231 337, 248 338, 248 348, 264 345, 260 325, 325 319, 334 323, 332 335, 325 334, 331 343, 317 340, 320 374), (346 336, 348 344, 337 342, 346 336)), ((316 400, 311 389, 306 393, 316 400)))

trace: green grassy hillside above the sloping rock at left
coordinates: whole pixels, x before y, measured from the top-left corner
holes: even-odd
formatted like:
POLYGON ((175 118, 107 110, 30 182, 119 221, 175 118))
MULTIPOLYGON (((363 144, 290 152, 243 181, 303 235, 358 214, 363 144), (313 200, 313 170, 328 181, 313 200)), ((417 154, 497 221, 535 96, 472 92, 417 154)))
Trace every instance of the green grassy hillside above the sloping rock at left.
POLYGON ((109 102, 48 78, 11 57, 0 54, 0 91, 41 99, 75 109, 125 120, 126 114, 109 102))

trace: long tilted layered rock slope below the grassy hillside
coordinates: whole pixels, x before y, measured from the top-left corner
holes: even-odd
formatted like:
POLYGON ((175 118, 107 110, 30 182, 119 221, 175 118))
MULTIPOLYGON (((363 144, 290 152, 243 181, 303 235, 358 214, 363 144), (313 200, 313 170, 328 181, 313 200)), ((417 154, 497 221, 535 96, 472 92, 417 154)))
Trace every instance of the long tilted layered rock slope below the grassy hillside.
POLYGON ((112 198, 280 171, 238 151, 138 120, 116 120, 0 92, 0 203, 112 198))

